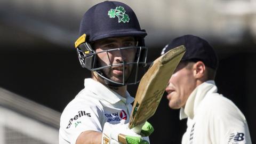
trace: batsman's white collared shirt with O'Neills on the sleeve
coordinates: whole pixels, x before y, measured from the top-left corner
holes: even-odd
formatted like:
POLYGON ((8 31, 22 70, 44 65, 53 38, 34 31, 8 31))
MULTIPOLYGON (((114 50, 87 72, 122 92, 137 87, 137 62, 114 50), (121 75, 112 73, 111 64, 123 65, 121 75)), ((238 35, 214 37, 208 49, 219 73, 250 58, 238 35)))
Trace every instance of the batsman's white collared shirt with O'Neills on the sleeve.
POLYGON ((106 122, 129 123, 134 98, 126 91, 126 98, 91 78, 85 88, 70 101, 60 118, 59 143, 76 143, 87 130, 102 132, 106 122))

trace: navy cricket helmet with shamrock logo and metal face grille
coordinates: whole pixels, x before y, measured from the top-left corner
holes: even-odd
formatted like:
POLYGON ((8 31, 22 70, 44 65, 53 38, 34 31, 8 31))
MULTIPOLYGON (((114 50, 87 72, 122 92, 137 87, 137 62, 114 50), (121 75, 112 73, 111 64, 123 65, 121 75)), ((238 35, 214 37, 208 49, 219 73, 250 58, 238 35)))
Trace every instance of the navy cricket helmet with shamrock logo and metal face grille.
MULTIPOLYGON (((121 2, 105 1, 92 6, 81 20, 80 37, 75 43, 77 54, 82 67, 91 71, 95 71, 101 78, 106 80, 106 83, 114 86, 122 86, 136 84, 140 81, 138 77, 139 67, 146 66, 147 47, 145 47, 144 37, 146 31, 140 28, 139 21, 134 11, 128 5, 121 2), (136 49, 134 61, 126 63, 125 61, 119 65, 134 65, 133 75, 134 81, 126 79, 122 83, 114 82, 109 79, 104 73, 104 68, 110 68, 114 65, 99 66, 97 63, 97 53, 91 44, 100 39, 110 37, 132 36, 137 41, 137 45, 133 47, 116 47, 103 52, 122 51, 124 49, 136 49), (134 68, 135 67, 135 68, 134 68)), ((122 54, 121 54, 122 55, 122 54)), ((123 74, 123 79, 125 74, 123 74)))

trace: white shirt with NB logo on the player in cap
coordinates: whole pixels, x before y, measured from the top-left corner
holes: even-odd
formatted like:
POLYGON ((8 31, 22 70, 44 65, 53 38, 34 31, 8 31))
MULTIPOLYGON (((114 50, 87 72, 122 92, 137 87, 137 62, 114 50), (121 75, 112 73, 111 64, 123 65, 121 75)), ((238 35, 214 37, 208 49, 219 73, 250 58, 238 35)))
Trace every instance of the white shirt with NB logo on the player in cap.
POLYGON ((189 95, 180 119, 188 118, 183 143, 251 143, 249 128, 235 104, 217 93, 214 81, 197 86, 189 95))

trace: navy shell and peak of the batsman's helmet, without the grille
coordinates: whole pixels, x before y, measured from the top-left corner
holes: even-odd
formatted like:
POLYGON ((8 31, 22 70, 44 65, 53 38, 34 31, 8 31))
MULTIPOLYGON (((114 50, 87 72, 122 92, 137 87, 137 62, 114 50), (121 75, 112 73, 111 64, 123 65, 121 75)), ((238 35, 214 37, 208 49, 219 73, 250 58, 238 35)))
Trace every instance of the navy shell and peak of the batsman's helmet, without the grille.
POLYGON ((98 3, 84 14, 79 29, 79 35, 83 34, 86 42, 109 37, 140 37, 139 46, 145 46, 143 38, 147 35, 131 7, 113 1, 98 3))

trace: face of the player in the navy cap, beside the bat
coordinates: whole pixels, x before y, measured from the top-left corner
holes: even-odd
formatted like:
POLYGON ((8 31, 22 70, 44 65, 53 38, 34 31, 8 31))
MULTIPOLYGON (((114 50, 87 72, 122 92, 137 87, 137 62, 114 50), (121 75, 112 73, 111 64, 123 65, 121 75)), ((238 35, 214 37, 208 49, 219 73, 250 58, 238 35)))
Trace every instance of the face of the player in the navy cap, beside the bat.
POLYGON ((196 87, 193 68, 188 65, 184 62, 179 63, 165 89, 168 93, 169 107, 172 109, 184 108, 189 95, 196 87))

